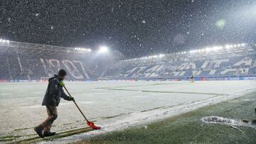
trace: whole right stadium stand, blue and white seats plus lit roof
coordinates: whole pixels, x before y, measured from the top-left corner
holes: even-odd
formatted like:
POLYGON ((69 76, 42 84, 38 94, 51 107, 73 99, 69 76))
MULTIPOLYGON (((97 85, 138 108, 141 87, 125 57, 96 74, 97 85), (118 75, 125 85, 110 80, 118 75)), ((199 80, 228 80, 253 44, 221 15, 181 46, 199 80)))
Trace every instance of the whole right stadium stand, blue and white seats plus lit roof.
POLYGON ((199 79, 255 77, 256 55, 250 45, 206 52, 185 52, 122 60, 121 67, 105 73, 111 79, 199 79), (146 59, 146 60, 145 60, 146 59), (159 59, 159 60, 154 60, 159 59), (115 72, 114 74, 112 72, 115 72), (108 75, 107 75, 108 74, 108 75))

